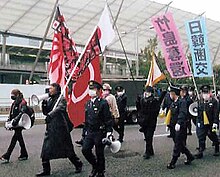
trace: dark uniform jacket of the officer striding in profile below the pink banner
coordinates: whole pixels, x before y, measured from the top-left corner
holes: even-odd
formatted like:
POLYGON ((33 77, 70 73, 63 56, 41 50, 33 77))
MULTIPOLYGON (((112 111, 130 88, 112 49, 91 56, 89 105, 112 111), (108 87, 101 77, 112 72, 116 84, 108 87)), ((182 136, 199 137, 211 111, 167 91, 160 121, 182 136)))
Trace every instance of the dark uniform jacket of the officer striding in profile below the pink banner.
POLYGON ((170 105, 171 120, 170 126, 175 126, 177 123, 181 126, 186 126, 187 122, 187 101, 186 98, 178 98, 177 101, 170 105))

